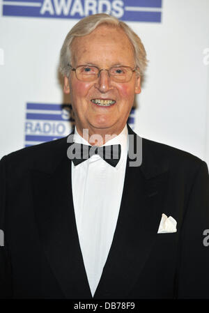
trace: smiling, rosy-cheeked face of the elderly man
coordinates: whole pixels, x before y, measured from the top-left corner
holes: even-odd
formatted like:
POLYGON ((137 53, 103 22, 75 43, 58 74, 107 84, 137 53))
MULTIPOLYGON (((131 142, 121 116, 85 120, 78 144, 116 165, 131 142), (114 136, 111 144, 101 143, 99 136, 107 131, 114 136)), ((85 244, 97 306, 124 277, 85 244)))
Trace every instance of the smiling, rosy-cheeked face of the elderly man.
MULTIPOLYGON (((109 69, 113 66, 135 68, 134 50, 121 29, 99 26, 87 36, 75 38, 72 43, 72 67, 80 65, 109 69)), ((70 93, 77 130, 88 128, 89 133, 101 132, 118 135, 127 122, 134 102, 140 93, 140 77, 134 72, 129 82, 114 82, 106 70, 93 82, 82 82, 75 72, 65 77, 65 93, 70 93), (116 101, 108 107, 92 102, 93 99, 116 101)))

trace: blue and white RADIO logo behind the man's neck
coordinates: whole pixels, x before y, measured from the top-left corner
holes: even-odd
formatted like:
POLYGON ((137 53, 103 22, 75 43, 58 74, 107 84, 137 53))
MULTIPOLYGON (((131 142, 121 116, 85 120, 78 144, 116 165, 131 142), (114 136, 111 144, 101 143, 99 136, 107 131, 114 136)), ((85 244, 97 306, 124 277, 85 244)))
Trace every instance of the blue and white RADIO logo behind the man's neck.
MULTIPOLYGON (((134 129, 135 109, 130 112, 129 123, 134 129)), ((27 103, 25 146, 33 146, 68 136, 75 123, 72 105, 27 103)))

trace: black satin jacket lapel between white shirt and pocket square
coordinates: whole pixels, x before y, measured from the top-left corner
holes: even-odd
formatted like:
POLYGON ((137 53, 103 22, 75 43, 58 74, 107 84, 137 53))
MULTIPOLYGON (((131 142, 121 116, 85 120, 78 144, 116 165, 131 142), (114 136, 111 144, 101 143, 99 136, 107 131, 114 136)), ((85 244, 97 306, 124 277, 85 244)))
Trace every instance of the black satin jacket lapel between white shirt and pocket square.
MULTIPOLYGON (((136 134, 128 127, 129 134, 136 134)), ((143 144, 143 162, 127 158, 121 208, 114 239, 94 298, 125 298, 139 278, 157 236, 163 213, 167 166, 143 144)))

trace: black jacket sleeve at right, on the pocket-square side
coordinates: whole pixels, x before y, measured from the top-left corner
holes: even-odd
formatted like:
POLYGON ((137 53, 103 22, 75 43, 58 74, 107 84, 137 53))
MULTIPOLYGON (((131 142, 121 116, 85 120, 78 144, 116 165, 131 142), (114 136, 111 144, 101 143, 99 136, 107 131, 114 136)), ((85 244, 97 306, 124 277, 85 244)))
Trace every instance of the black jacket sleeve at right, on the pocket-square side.
POLYGON ((206 162, 201 161, 181 229, 177 298, 209 298, 206 234, 209 234, 209 176, 206 162))

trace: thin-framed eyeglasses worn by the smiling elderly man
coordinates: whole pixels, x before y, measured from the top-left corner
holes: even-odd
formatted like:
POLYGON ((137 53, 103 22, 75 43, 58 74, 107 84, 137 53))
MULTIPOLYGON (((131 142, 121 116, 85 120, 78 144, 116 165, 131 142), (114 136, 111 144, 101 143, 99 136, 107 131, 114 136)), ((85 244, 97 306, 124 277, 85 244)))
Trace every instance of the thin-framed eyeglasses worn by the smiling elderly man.
MULTIPOLYGON (((70 67, 72 68, 72 66, 70 67)), ((72 68, 71 70, 75 72, 77 79, 82 82, 93 82, 98 79, 101 70, 106 69, 99 69, 96 66, 77 66, 77 68, 72 68)), ((135 71, 136 68, 132 69, 130 66, 115 66, 107 70, 109 77, 111 77, 114 82, 121 83, 129 82, 135 71)))

